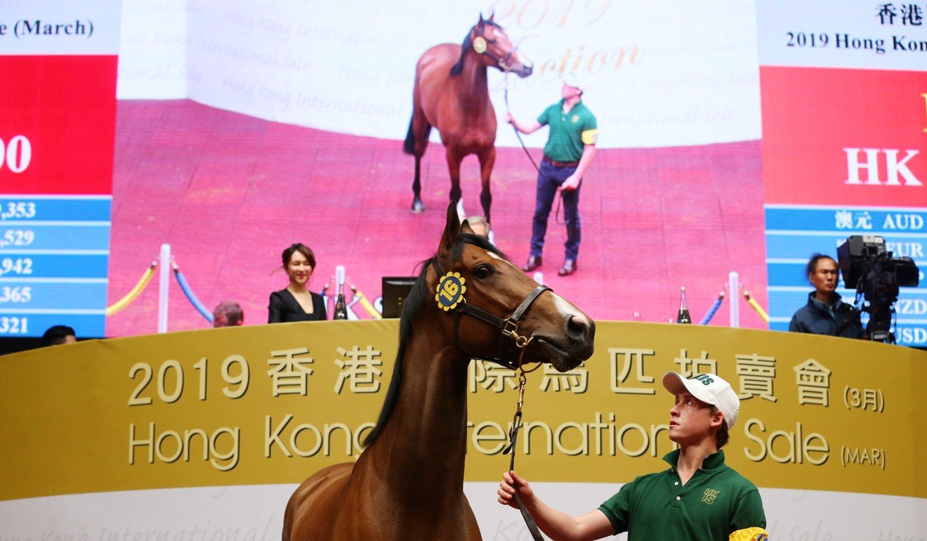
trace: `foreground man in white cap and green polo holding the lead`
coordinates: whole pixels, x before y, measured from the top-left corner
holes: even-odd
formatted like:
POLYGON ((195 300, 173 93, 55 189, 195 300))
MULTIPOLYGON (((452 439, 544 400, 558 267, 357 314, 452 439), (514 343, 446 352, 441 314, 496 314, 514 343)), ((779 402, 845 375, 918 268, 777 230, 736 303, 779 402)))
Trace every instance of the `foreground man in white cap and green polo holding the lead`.
POLYGON ((663 457, 669 469, 642 475, 584 515, 548 507, 514 471, 502 474, 499 502, 517 507, 518 496, 552 539, 601 539, 628 532, 629 541, 766 541, 766 514, 756 485, 724 463, 720 447, 737 420, 740 400, 714 374, 684 380, 663 376, 676 396, 669 410, 669 439, 679 449, 663 457))

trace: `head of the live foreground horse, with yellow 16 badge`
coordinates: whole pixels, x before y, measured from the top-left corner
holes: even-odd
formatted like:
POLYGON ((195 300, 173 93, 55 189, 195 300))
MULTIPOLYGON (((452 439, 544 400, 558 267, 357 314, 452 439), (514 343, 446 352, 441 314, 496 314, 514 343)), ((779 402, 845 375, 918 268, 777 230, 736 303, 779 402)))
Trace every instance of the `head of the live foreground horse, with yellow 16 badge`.
POLYGON ((507 367, 550 363, 560 371, 592 354, 595 323, 576 306, 527 277, 485 238, 462 225, 453 202, 425 272, 429 298, 466 357, 507 367))

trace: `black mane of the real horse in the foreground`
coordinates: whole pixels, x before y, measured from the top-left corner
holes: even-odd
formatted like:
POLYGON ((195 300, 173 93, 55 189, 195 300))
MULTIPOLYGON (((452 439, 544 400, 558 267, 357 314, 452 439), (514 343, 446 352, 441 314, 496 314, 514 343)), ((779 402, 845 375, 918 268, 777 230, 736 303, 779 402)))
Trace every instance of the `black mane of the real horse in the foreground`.
MULTIPOLYGON (((458 261, 464 254, 464 244, 473 244, 476 247, 482 248, 486 251, 491 251, 496 255, 501 256, 506 261, 508 257, 505 256, 502 251, 492 245, 486 238, 482 238, 478 235, 470 235, 468 233, 462 233, 457 237, 457 241, 454 242, 453 247, 451 247, 451 261, 458 261)), ((409 292, 409 296, 405 298, 405 301, 402 303, 402 315, 400 316, 400 346, 396 352, 396 363, 393 367, 393 377, 389 381, 389 389, 387 390, 387 397, 383 400, 383 407, 380 408, 380 416, 376 419, 376 426, 367 437, 363 439, 363 446, 369 447, 376 441, 376 437, 380 435, 380 432, 383 431, 384 427, 387 426, 387 421, 389 416, 393 413, 393 408, 396 406, 396 401, 399 399, 400 387, 402 383, 402 358, 405 357, 405 348, 406 344, 412 339, 412 320, 418 313, 425 308, 425 303, 428 299, 433 299, 434 296, 427 289, 425 275, 428 273, 428 267, 434 263, 435 259, 438 257, 438 254, 433 255, 432 257, 426 259, 420 265, 422 270, 418 273, 418 278, 415 280, 415 284, 412 287, 412 290, 409 292)))

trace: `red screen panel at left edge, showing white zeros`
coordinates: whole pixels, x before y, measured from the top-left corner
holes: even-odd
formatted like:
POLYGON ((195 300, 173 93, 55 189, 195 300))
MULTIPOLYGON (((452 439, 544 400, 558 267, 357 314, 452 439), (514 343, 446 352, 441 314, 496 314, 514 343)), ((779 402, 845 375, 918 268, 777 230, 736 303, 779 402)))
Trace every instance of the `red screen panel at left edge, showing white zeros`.
POLYGON ((116 56, 0 56, 0 192, 112 193, 116 56))

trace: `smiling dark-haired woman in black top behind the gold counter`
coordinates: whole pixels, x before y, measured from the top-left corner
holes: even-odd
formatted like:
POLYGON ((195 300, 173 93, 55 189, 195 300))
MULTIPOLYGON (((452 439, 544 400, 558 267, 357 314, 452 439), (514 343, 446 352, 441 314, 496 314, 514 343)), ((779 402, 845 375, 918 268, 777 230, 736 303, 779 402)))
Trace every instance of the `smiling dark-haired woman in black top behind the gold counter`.
POLYGON ((290 283, 285 289, 271 293, 270 304, 267 306, 267 322, 326 319, 322 295, 307 289, 312 271, 315 270, 315 254, 308 246, 297 242, 284 251, 283 261, 290 283))

